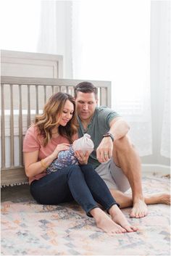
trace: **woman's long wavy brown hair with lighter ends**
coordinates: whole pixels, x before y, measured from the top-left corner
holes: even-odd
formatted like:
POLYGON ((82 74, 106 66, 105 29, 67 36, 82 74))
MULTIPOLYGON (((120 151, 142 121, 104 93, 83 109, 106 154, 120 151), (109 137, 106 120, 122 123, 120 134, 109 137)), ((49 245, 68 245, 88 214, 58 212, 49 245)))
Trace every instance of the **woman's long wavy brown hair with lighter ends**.
POLYGON ((75 116, 75 100, 70 94, 58 92, 53 94, 43 108, 42 115, 36 115, 35 125, 38 126, 40 134, 43 136, 43 146, 51 141, 52 129, 58 124, 58 119, 62 115, 65 102, 69 100, 74 105, 74 112, 67 125, 59 125, 58 132, 61 136, 67 138, 72 144, 72 136, 78 131, 77 118, 75 116))

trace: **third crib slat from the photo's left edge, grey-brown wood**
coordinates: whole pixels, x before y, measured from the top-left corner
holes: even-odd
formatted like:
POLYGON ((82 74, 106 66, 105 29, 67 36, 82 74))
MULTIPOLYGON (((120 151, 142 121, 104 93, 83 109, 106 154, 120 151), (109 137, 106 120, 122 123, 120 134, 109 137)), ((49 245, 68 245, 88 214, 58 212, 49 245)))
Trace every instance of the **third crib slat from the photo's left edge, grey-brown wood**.
POLYGON ((22 161, 22 88, 19 85, 19 165, 23 165, 22 161))

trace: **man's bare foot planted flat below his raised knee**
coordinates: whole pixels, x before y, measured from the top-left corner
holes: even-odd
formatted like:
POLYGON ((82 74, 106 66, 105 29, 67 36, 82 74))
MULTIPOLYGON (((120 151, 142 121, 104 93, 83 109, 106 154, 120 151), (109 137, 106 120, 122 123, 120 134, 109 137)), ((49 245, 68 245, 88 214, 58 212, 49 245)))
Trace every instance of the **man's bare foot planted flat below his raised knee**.
POLYGON ((130 212, 131 218, 143 218, 147 215, 147 206, 142 199, 137 199, 133 202, 133 209, 130 212))

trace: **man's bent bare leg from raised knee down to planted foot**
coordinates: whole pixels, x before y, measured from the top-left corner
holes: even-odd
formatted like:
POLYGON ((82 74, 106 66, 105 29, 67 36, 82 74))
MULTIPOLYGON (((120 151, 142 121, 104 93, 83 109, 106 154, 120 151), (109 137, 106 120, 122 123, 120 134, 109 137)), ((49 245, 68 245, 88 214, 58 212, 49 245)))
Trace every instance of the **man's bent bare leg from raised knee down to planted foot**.
POLYGON ((115 164, 122 168, 132 189, 133 209, 130 212, 130 217, 146 216, 147 206, 144 202, 141 183, 141 160, 128 136, 114 141, 113 158, 115 164))

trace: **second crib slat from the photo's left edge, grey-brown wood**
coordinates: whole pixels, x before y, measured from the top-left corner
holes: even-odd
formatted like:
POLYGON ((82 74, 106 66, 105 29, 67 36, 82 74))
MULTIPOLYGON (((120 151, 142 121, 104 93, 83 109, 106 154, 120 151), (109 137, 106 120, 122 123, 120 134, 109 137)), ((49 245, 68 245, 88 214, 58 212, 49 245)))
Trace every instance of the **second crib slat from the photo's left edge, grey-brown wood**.
POLYGON ((13 85, 10 84, 10 164, 14 166, 14 112, 13 112, 13 85))

